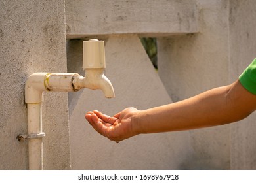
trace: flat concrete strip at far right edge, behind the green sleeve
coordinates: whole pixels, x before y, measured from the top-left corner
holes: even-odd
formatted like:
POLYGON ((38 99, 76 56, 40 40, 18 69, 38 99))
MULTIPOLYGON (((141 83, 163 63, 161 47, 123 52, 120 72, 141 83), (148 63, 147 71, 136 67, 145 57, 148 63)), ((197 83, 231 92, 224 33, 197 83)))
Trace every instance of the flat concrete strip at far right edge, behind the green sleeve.
MULTIPOLYGON (((230 80, 256 57, 255 1, 230 1, 230 80)), ((256 115, 232 125, 231 169, 256 169, 256 115)))

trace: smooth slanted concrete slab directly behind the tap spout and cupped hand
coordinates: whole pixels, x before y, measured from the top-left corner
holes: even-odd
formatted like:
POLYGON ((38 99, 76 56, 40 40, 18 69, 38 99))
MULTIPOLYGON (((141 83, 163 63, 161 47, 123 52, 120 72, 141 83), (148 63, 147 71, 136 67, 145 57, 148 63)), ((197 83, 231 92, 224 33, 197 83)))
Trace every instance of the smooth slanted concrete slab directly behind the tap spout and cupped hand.
POLYGON ((70 104, 74 108, 70 114, 72 169, 180 169, 192 152, 188 132, 139 135, 116 144, 96 133, 84 118, 85 112, 95 108, 114 115, 126 107, 171 103, 137 35, 108 38, 106 76, 114 86, 114 99, 85 89, 75 106, 70 104))

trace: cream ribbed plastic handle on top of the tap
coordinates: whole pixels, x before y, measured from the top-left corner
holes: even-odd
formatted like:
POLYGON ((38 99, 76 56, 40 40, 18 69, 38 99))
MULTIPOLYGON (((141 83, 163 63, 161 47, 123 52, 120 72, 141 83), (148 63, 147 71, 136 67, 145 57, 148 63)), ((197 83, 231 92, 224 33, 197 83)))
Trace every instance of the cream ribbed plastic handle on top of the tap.
POLYGON ((106 68, 104 41, 83 41, 83 70, 106 68))

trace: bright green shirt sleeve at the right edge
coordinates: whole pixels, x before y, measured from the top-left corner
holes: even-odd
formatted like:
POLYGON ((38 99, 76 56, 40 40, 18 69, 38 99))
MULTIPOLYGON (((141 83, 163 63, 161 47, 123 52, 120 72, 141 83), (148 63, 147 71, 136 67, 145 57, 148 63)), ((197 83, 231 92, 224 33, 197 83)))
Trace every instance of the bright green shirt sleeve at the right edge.
POLYGON ((239 76, 239 80, 246 90, 256 95, 256 58, 239 76))

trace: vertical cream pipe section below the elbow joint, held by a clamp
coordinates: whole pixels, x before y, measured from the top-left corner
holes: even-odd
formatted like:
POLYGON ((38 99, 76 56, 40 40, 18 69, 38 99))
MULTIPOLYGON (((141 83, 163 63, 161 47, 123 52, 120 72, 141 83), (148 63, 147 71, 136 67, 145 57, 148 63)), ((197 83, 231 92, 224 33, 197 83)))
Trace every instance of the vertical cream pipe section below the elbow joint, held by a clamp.
MULTIPOLYGON (((41 103, 28 103, 28 134, 42 133, 41 103)), ((43 170, 43 139, 29 139, 28 159, 30 170, 43 170)))

